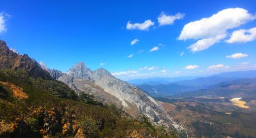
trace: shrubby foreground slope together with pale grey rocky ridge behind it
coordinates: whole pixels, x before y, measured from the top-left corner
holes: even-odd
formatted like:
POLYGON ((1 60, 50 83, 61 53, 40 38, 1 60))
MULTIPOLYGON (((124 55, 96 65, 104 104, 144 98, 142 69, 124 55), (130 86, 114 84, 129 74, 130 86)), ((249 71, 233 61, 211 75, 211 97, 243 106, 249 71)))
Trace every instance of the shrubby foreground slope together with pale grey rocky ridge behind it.
POLYGON ((176 137, 161 102, 103 68, 51 70, 1 40, 0 63, 0 137, 176 137))

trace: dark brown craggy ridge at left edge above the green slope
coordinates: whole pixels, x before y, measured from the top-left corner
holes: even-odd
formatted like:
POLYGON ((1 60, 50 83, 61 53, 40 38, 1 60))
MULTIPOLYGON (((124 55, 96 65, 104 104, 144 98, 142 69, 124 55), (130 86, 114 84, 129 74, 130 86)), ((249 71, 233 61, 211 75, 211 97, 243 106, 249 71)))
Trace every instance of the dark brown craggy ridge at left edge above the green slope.
POLYGON ((21 55, 10 50, 2 40, 0 40, 0 68, 20 69, 26 71, 29 76, 52 80, 51 75, 43 70, 34 59, 26 54, 21 55))

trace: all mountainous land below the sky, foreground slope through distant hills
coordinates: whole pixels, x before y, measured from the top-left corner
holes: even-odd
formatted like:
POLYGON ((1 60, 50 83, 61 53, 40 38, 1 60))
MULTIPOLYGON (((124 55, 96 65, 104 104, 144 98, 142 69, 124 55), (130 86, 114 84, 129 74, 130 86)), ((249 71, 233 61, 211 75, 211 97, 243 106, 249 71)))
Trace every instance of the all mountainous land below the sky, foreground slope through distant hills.
POLYGON ((63 73, 0 48, 0 137, 256 136, 255 71, 135 86, 83 62, 63 73))

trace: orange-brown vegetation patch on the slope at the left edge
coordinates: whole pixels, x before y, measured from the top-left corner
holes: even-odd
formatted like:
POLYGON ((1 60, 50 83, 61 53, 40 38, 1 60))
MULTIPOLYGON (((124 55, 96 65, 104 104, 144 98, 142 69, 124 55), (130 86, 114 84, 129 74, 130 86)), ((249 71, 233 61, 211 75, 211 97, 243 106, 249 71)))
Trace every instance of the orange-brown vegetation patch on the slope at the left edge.
POLYGON ((17 99, 28 98, 28 94, 23 92, 23 89, 18 87, 17 85, 11 84, 9 82, 2 82, 2 81, 0 81, 0 83, 2 83, 3 85, 6 85, 7 87, 9 87, 9 89, 12 90, 13 96, 15 98, 17 98, 17 99))

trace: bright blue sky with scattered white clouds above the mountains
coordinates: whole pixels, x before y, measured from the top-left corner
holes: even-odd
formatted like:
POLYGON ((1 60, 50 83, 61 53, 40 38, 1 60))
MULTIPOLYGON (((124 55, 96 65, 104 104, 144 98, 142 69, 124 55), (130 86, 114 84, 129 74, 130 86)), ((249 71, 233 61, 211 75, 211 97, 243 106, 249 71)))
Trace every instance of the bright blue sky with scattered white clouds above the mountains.
POLYGON ((255 5, 255 1, 2 1, 0 39, 50 68, 66 72, 82 61, 92 70, 103 67, 123 80, 254 70, 255 5))

